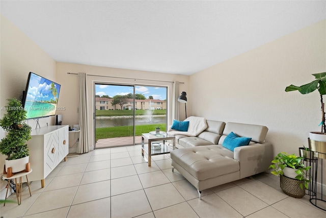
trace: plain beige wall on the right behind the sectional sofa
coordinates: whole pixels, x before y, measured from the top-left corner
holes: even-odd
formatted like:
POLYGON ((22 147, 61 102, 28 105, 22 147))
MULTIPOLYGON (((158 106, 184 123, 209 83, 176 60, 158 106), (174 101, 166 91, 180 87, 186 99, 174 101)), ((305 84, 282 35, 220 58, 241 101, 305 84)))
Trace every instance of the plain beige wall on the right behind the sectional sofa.
POLYGON ((196 99, 193 115, 265 125, 275 155, 298 155, 298 147, 308 147, 309 132, 320 131, 320 98, 284 90, 324 71, 326 20, 197 72, 187 96, 196 99))

